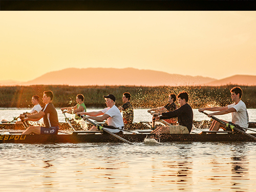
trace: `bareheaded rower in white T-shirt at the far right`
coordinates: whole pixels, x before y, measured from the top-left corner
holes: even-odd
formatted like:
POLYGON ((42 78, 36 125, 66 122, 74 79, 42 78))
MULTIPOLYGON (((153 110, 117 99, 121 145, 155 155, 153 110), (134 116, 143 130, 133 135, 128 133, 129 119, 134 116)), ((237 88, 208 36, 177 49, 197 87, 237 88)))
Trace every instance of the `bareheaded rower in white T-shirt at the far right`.
MULTIPOLYGON (((249 116, 246 109, 245 103, 241 100, 243 91, 240 87, 234 87, 230 90, 231 93, 231 99, 233 101, 232 104, 229 104, 227 106, 215 106, 212 108, 200 108, 198 111, 217 111, 215 113, 207 114, 208 117, 211 117, 213 115, 224 115, 228 113, 232 113, 232 123, 237 124, 242 128, 248 128, 249 125, 249 116)), ((224 121, 224 120, 222 120, 224 121)), ((224 121, 228 123, 228 121, 224 121)), ((209 131, 218 131, 220 128, 222 128, 225 131, 232 131, 229 127, 224 126, 222 123, 214 120, 210 126, 209 131)), ((246 131, 246 130, 242 130, 246 131)))

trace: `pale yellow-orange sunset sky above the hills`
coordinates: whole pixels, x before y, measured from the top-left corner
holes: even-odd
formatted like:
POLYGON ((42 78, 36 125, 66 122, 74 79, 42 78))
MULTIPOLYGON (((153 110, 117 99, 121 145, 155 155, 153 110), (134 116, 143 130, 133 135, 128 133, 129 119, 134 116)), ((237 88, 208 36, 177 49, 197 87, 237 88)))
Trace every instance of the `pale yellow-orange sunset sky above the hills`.
POLYGON ((98 67, 256 75, 255 24, 256 11, 1 11, 0 81, 98 67))

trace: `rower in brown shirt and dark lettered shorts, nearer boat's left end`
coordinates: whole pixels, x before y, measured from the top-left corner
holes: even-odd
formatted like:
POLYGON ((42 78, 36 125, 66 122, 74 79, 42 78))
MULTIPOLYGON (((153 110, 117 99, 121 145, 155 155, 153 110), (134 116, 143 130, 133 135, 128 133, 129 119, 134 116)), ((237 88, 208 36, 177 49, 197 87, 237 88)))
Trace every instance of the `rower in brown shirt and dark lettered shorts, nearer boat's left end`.
POLYGON ((52 91, 45 91, 42 101, 46 104, 41 111, 36 114, 31 115, 20 115, 19 118, 22 121, 38 121, 44 117, 45 126, 29 126, 22 134, 45 134, 45 135, 54 135, 58 133, 59 121, 57 111, 52 104, 53 93, 52 91))

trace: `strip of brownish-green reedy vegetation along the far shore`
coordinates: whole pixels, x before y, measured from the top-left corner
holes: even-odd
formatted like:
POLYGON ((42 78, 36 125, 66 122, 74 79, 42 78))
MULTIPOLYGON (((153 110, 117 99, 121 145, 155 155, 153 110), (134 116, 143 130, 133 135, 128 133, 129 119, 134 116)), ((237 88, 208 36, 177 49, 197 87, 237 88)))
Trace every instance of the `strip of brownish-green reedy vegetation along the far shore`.
MULTIPOLYGON (((44 91, 51 90, 54 94, 53 104, 56 108, 74 106, 76 95, 84 95, 87 108, 105 108, 103 95, 114 94, 116 105, 120 106, 122 94, 129 92, 132 95, 131 103, 134 109, 151 109, 163 106, 167 102, 168 94, 178 95, 186 91, 189 95, 188 103, 193 109, 207 106, 225 106, 231 104, 230 89, 236 85, 219 87, 184 86, 184 87, 145 87, 145 86, 2 86, 0 87, 0 108, 32 108, 31 98, 38 95, 42 98, 44 91)), ((256 108, 256 87, 240 86, 243 90, 242 100, 248 109, 256 108)), ((177 102, 177 101, 176 101, 177 102)), ((42 100, 40 99, 42 105, 42 100)))

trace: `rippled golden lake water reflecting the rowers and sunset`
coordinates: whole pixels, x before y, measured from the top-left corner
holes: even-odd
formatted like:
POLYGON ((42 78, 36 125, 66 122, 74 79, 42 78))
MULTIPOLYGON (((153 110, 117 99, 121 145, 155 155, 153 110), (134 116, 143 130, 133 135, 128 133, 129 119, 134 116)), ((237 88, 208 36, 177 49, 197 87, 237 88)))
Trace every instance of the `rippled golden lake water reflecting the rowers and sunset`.
MULTIPOLYGON (((0 109, 0 118, 23 111, 0 109)), ((248 110, 250 121, 255 112, 248 110)), ((197 110, 194 116, 209 120, 197 110)), ((61 112, 59 119, 64 122, 61 112)), ((150 120, 146 110, 135 110, 135 121, 150 120)), ((256 191, 255 144, 4 143, 0 191, 256 191)))

